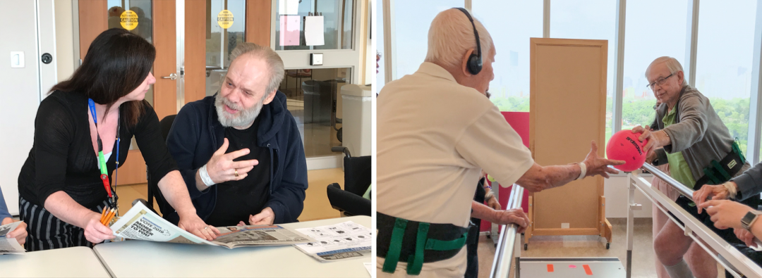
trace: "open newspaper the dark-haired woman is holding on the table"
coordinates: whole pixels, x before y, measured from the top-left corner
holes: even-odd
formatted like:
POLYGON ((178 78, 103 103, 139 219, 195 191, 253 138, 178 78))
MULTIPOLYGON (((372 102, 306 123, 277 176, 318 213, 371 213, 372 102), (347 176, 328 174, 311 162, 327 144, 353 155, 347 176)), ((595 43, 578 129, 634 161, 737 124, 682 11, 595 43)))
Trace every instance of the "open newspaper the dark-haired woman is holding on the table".
POLYGON ((313 239, 300 232, 277 225, 218 227, 220 235, 213 241, 207 241, 191 234, 191 232, 180 229, 178 226, 174 226, 161 216, 153 213, 142 203, 135 204, 110 228, 117 238, 122 239, 216 245, 226 248, 293 245, 296 243, 314 242, 313 239))

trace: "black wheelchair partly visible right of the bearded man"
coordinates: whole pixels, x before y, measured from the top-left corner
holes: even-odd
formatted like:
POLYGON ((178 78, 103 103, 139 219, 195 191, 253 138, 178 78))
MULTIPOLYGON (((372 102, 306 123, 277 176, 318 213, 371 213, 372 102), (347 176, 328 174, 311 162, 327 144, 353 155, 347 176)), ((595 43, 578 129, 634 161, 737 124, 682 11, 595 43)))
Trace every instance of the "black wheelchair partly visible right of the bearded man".
MULTIPOLYGON (((333 147, 333 151, 344 152, 344 190, 338 183, 328 185, 328 201, 331 207, 344 216, 373 216, 373 201, 363 198, 368 186, 373 183, 373 156, 352 157, 347 147, 333 147)), ((375 199, 373 191, 370 198, 375 199)))

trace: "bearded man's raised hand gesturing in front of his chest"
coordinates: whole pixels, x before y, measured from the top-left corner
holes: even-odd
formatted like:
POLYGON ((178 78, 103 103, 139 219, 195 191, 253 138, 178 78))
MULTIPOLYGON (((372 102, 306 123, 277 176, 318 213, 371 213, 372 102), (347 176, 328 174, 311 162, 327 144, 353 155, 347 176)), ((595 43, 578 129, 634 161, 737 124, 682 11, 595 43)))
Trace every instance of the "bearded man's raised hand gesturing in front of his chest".
POLYGON ((227 181, 239 181, 245 178, 258 160, 233 161, 236 158, 245 156, 249 153, 248 149, 236 150, 232 153, 225 153, 228 150, 228 138, 223 141, 223 146, 214 152, 212 158, 207 163, 207 173, 212 178, 212 182, 218 184, 227 181))

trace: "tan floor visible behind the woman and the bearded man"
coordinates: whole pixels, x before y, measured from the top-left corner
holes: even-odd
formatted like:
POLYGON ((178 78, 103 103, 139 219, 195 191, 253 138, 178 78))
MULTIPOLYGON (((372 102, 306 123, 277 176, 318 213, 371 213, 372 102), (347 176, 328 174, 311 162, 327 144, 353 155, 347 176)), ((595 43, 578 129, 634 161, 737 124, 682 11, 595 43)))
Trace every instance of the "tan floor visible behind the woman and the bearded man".
MULTIPOLYGON (((307 176, 309 183, 304 200, 304 210, 299 216, 299 221, 322 220, 340 216, 338 210, 333 209, 331 203, 328 202, 325 188, 334 182, 338 182, 342 188, 344 187, 344 172, 341 171, 341 168, 312 170, 307 172, 307 176)), ((146 184, 120 185, 117 188, 117 193, 119 194, 119 210, 123 214, 133 207, 132 202, 135 199, 148 198, 148 186, 146 184)), ((155 205, 154 207, 158 211, 158 207, 155 205)))

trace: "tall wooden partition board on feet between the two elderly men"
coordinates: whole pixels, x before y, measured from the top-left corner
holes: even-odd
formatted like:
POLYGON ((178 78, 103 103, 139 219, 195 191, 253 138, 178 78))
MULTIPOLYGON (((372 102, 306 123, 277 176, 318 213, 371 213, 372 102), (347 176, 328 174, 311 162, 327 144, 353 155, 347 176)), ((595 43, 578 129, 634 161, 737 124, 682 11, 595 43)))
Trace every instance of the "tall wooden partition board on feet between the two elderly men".
MULTIPOLYGON (((530 39, 530 150, 542 166, 584 160, 591 141, 604 156, 608 42, 530 39)), ((611 242, 604 178, 530 194, 532 235, 600 235, 611 242)))

